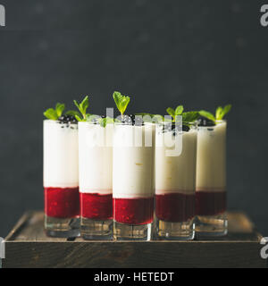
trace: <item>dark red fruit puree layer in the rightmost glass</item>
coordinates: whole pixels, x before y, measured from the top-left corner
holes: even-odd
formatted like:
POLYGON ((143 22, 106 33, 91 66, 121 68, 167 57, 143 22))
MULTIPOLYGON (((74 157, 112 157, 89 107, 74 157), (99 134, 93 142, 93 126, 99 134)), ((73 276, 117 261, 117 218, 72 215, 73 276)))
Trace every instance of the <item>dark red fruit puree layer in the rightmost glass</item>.
POLYGON ((214 215, 226 211, 226 191, 197 191, 196 214, 214 215))

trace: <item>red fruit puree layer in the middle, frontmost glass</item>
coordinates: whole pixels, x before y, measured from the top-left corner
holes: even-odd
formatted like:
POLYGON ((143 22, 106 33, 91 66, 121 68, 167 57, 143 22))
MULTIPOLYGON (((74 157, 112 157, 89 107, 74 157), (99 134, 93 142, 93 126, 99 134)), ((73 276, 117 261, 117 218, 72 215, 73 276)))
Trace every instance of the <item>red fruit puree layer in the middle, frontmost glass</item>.
POLYGON ((152 223, 154 219, 154 197, 113 198, 113 217, 117 223, 152 223))

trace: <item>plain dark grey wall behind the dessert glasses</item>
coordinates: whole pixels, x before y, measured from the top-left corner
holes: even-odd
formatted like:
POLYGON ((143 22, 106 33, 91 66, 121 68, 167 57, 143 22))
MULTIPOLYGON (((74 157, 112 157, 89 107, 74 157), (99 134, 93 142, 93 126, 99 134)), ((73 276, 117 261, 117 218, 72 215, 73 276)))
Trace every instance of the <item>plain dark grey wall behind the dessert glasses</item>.
POLYGON ((268 28, 256 0, 0 0, 0 236, 43 207, 43 111, 90 95, 90 112, 131 95, 130 113, 168 106, 228 116, 229 208, 268 236, 268 28))

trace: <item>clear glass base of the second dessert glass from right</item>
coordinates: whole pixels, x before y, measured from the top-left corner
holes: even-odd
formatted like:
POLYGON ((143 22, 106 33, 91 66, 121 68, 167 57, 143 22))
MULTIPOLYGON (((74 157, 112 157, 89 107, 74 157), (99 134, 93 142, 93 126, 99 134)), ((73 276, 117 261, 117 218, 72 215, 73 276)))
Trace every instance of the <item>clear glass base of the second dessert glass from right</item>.
POLYGON ((156 219, 155 231, 158 240, 194 240, 194 219, 183 223, 164 222, 156 219))

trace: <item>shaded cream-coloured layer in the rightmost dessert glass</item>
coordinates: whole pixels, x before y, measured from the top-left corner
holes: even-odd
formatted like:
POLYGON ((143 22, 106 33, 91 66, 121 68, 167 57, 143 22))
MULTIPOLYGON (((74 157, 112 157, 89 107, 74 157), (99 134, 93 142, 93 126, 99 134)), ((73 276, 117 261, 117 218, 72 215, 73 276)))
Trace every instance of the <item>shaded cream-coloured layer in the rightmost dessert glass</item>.
POLYGON ((197 191, 226 189, 226 122, 198 127, 197 191))

